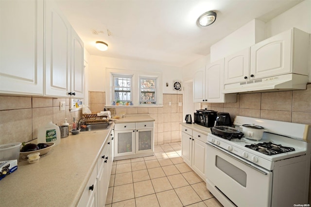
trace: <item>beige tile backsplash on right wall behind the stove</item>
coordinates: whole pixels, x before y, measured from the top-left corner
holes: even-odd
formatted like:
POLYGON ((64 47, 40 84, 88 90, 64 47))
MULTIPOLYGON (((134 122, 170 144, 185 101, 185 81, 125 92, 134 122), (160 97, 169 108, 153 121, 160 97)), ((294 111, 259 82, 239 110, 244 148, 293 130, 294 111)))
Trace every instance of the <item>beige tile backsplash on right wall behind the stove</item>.
POLYGON ((235 116, 311 124, 311 84, 307 90, 238 94, 237 103, 201 104, 235 116))

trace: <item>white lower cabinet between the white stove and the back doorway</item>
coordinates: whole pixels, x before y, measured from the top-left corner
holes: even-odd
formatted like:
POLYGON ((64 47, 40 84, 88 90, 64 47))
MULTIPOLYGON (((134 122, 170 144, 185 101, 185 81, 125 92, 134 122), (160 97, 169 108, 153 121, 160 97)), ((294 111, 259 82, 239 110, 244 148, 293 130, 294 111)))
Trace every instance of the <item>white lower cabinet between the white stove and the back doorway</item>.
POLYGON ((207 135, 182 126, 181 157, 203 180, 205 180, 206 173, 207 146, 205 139, 207 139, 207 135))

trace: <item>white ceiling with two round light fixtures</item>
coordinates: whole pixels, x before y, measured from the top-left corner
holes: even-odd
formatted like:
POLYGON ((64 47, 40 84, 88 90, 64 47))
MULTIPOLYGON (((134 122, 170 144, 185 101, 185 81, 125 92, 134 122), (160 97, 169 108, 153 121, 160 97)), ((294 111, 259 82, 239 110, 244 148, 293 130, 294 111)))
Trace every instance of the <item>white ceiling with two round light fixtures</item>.
POLYGON ((252 19, 267 22, 301 1, 57 0, 57 4, 90 55, 182 67, 209 54, 211 45, 252 19), (210 10, 217 13, 216 21, 197 26, 197 18, 210 10), (106 42, 108 50, 97 50, 96 41, 106 42))

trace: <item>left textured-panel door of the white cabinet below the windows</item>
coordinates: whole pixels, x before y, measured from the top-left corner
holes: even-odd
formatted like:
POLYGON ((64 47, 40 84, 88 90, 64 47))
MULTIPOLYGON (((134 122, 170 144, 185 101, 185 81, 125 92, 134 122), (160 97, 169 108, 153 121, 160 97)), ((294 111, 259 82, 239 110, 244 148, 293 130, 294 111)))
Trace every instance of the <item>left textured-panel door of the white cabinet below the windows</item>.
POLYGON ((135 130, 115 131, 115 156, 135 154, 135 130))

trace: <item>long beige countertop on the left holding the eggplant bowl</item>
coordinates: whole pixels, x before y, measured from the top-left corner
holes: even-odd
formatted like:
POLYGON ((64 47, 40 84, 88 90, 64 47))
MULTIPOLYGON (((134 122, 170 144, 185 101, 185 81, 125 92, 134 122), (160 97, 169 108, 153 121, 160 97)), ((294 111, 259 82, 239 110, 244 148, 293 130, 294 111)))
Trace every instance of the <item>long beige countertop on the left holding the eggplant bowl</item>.
POLYGON ((19 160, 17 171, 0 180, 0 206, 76 206, 113 126, 62 138, 37 163, 19 160))

